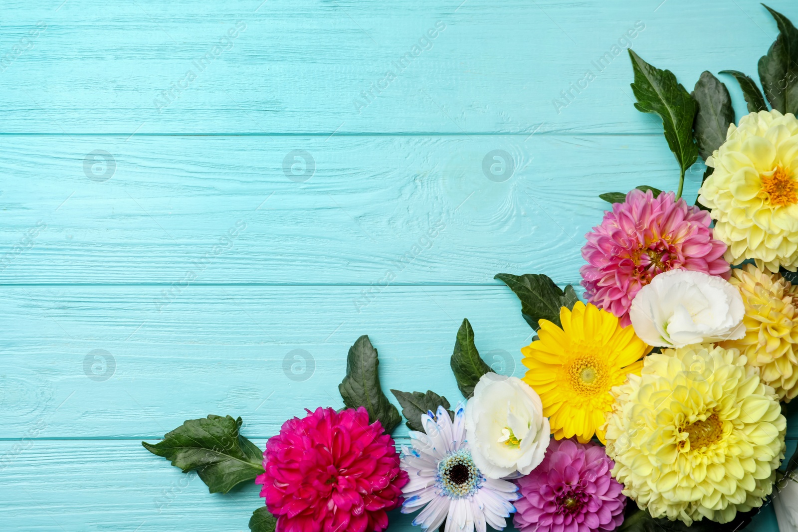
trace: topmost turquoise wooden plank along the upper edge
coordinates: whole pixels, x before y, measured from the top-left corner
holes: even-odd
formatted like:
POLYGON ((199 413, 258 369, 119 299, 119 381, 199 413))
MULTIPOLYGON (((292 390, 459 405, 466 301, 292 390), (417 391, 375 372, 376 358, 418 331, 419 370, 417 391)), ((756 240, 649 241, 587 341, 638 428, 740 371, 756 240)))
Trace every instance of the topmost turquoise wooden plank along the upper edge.
POLYGON ((623 48, 691 88, 705 69, 755 75, 777 30, 756 0, 659 3, 14 0, 0 131, 660 132, 623 48))

